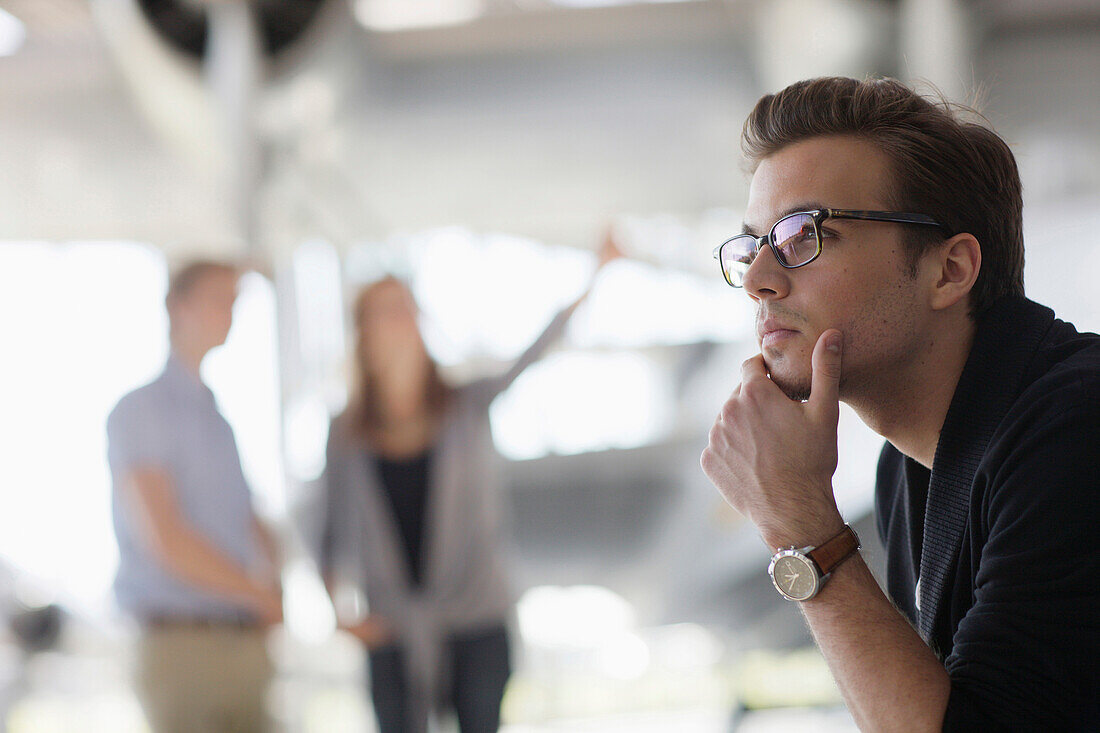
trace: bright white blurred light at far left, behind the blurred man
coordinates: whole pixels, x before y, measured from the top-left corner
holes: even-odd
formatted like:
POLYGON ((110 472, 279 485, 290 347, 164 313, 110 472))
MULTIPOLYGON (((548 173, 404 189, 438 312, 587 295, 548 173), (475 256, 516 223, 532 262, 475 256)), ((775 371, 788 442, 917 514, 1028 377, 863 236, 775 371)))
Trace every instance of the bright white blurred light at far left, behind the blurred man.
POLYGON ((0 557, 85 611, 106 608, 118 561, 105 424, 164 365, 165 284, 148 248, 0 244, 0 309, 19 314, 4 321, 0 557))

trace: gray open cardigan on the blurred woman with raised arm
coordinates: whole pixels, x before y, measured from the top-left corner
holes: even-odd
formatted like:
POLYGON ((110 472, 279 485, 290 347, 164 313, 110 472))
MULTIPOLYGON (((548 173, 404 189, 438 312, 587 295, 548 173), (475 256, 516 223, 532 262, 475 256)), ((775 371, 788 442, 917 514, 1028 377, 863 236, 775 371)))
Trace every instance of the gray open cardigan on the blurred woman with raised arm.
POLYGON ((444 688, 448 635, 502 623, 512 613, 488 406, 562 333, 574 307, 560 311, 506 374, 454 391, 428 477, 419 588, 410 587, 400 533, 369 446, 348 438, 344 415, 329 430, 320 570, 358 584, 370 612, 395 633, 406 652, 418 730, 427 730, 429 710, 444 688))

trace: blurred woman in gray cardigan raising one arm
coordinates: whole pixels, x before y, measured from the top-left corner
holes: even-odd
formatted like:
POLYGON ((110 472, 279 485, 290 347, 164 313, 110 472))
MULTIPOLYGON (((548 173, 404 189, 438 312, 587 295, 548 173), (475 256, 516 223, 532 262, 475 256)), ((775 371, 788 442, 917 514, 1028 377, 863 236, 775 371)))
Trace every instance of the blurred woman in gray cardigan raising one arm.
MULTIPOLYGON (((600 266, 617 254, 608 237, 600 266)), ((329 433, 321 570, 334 603, 341 579, 365 592, 370 613, 340 624, 366 646, 382 733, 422 733, 443 707, 462 733, 499 725, 513 600, 488 407, 586 295, 507 373, 463 387, 440 379, 403 282, 355 299, 355 384, 329 433)))

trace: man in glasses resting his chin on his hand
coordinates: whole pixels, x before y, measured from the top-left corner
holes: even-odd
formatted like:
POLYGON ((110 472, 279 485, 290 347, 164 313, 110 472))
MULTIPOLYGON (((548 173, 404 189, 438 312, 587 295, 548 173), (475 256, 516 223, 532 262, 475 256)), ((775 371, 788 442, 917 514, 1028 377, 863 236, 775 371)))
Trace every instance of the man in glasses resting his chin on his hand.
MULTIPOLYGON (((994 133, 893 80, 826 78, 745 124, 716 252, 760 353, 701 462, 777 553, 861 729, 1100 726, 1100 337, 1023 295, 994 133), (832 491, 838 402, 887 439, 887 590, 832 491)), ((1071 266, 1071 263, 1067 263, 1071 266)))

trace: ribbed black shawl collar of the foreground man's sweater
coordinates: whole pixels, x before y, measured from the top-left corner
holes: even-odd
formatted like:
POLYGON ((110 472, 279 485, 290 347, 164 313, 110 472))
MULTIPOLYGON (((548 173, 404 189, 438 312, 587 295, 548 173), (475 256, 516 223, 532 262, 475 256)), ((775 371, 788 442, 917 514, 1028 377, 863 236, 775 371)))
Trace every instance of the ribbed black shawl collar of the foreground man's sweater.
POLYGON ((1024 389, 1027 366, 1054 311, 1021 296, 993 304, 978 320, 970 355, 944 419, 928 482, 921 549, 920 631, 933 636, 957 565, 975 475, 993 433, 1024 389))

